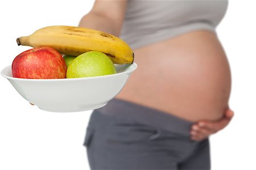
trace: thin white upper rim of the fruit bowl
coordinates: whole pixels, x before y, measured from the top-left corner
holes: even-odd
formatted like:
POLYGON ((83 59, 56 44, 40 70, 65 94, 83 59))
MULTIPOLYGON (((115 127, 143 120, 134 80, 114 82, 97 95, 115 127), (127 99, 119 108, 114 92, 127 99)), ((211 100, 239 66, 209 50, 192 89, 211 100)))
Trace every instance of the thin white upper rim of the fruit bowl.
POLYGON ((131 63, 129 66, 129 69, 126 71, 123 71, 121 73, 115 73, 115 74, 109 74, 109 75, 100 75, 100 76, 90 76, 90 77, 84 77, 84 78, 62 78, 62 79, 26 79, 26 78, 15 78, 13 76, 8 76, 4 74, 5 70, 11 69, 11 65, 6 66, 2 71, 1 75, 7 79, 11 80, 18 80, 18 81, 28 81, 28 82, 61 82, 61 81, 74 81, 74 80, 88 80, 88 79, 99 79, 99 78, 107 78, 110 76, 117 76, 122 74, 130 74, 134 70, 137 69, 137 63, 131 63))

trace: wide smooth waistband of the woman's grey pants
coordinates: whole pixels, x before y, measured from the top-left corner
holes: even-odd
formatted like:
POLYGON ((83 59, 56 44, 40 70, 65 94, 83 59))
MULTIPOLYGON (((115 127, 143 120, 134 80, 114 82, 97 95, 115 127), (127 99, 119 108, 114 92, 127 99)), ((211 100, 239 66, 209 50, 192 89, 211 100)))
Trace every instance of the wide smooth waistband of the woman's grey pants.
POLYGON ((185 136, 189 136, 192 125, 192 122, 173 116, 170 113, 119 99, 110 100, 105 107, 96 109, 96 111, 109 116, 127 118, 185 136))

